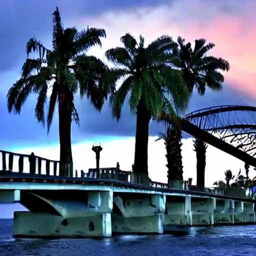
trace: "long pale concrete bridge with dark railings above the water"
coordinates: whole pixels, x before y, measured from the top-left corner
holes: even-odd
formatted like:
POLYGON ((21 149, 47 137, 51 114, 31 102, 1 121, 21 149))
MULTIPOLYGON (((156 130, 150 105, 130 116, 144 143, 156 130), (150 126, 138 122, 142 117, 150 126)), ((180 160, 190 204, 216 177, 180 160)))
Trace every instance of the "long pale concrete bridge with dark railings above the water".
POLYGON ((14 212, 14 237, 109 237, 256 221, 250 189, 198 187, 191 179, 170 187, 118 164, 59 176, 58 161, 0 154, 0 203, 29 210, 14 212))

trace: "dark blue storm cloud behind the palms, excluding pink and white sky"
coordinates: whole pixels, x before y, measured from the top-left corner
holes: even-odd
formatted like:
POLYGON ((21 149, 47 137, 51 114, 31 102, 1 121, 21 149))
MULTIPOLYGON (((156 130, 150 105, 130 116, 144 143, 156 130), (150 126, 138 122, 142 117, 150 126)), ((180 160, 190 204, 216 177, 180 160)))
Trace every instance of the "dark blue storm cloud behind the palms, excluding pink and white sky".
MULTIPOLYGON (((135 6, 153 6, 169 2, 165 0, 8 0, 0 1, 0 149, 13 146, 38 146, 58 142, 57 111, 52 127, 47 136, 46 129, 34 118, 35 96, 30 96, 20 115, 7 112, 6 92, 18 77, 21 64, 25 59, 26 41, 35 36, 43 43, 51 40, 51 13, 58 6, 64 26, 69 21, 75 25, 75 19, 81 16, 94 15, 99 12, 135 6), (14 71, 13 71, 14 70, 14 71), (3 78, 3 73, 5 73, 3 78)), ((47 45, 50 47, 50 45, 47 45)), ((200 97, 194 94, 187 112, 202 107, 221 104, 250 104, 245 97, 227 89, 220 93, 205 93, 200 97)), ((123 107, 119 122, 111 116, 111 109, 106 103, 98 113, 88 100, 76 100, 80 116, 80 127, 73 124, 72 142, 79 142, 96 136, 134 136, 136 118, 130 114, 127 102, 123 107)), ((150 123, 149 134, 158 135, 164 131, 164 125, 150 123)))

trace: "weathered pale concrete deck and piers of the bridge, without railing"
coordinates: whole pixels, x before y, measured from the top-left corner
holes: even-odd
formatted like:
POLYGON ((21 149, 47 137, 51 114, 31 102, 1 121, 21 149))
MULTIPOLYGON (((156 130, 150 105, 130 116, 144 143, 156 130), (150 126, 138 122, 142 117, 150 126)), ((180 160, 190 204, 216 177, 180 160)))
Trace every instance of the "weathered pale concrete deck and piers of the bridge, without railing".
POLYGON ((0 183, 0 203, 19 201, 30 210, 15 212, 14 236, 108 237, 256 222, 254 201, 246 198, 125 184, 7 185, 0 183))

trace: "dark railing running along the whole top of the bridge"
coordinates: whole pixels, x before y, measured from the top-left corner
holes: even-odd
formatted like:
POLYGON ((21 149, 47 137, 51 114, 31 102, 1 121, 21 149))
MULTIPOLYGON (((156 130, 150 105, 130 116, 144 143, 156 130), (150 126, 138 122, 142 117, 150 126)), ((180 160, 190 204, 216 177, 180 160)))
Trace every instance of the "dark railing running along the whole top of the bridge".
MULTIPOLYGON (((9 151, 0 150, 0 175, 8 175, 12 172, 29 173, 31 175, 45 174, 59 176, 59 161, 49 160, 40 156, 31 154, 19 154, 9 151), (15 167, 17 166, 17 167, 15 167), (13 167, 15 170, 13 170, 13 167)), ((72 173, 72 172, 70 172, 72 173)), ((136 173, 133 171, 120 170, 119 167, 107 168, 90 168, 88 172, 80 171, 81 178, 101 178, 113 179, 130 183, 138 183, 142 185, 161 187, 161 188, 176 188, 192 191, 207 192, 213 194, 221 194, 234 197, 251 198, 252 189, 244 189, 242 187, 227 187, 227 188, 209 188, 191 185, 187 180, 180 181, 172 180, 170 183, 161 183, 152 181, 146 173, 136 173)), ((78 172, 75 170, 75 177, 78 177, 78 172)))

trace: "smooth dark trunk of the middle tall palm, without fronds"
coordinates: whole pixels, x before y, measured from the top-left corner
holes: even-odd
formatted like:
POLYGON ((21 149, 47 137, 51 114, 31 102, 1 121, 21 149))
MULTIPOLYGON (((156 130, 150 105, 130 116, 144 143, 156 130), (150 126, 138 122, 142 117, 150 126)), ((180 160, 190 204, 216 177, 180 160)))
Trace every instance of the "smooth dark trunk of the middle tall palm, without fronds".
POLYGON ((147 145, 150 114, 143 107, 142 101, 139 101, 137 105, 136 117, 134 172, 146 173, 148 175, 147 145))

